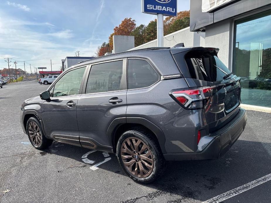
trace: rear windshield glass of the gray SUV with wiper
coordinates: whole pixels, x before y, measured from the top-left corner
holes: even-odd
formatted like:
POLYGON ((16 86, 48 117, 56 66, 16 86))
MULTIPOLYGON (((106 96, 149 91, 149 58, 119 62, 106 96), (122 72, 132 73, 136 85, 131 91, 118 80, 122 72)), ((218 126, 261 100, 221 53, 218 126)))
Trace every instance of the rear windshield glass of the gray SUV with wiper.
POLYGON ((185 55, 185 61, 191 78, 216 82, 231 71, 219 60, 219 58, 207 51, 191 51, 185 55))

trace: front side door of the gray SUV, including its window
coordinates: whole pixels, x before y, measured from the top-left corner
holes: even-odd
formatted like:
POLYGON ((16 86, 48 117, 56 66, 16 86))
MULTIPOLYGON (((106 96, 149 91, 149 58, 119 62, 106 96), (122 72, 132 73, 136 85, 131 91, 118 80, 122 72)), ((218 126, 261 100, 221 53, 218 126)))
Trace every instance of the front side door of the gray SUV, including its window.
POLYGON ((62 75, 50 89, 50 101, 42 103, 42 120, 46 135, 59 142, 81 146, 76 120, 76 105, 82 91, 86 67, 62 75))

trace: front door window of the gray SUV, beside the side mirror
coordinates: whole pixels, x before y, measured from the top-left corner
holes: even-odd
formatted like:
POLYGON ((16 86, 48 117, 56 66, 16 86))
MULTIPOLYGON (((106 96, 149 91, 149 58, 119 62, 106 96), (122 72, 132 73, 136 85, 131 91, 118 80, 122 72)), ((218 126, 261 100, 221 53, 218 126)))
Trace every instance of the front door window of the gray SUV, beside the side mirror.
POLYGON ((54 85, 53 97, 79 94, 86 67, 77 68, 63 75, 54 85))

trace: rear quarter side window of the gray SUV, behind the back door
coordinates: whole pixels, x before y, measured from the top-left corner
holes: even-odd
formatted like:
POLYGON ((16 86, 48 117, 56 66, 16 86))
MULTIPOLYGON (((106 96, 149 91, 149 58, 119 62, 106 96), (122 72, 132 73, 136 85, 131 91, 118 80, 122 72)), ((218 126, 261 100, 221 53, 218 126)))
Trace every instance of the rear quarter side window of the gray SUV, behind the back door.
POLYGON ((147 61, 128 60, 128 89, 149 87, 158 80, 158 73, 147 61))

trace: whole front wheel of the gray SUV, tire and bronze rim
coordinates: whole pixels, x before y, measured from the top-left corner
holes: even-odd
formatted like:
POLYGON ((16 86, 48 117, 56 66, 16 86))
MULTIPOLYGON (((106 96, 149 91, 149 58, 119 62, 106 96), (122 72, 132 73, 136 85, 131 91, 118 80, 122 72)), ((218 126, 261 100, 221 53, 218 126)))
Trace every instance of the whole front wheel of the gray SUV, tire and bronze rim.
POLYGON ((44 136, 40 122, 34 117, 28 119, 26 132, 31 144, 36 149, 46 149, 53 142, 53 140, 49 140, 44 136))

